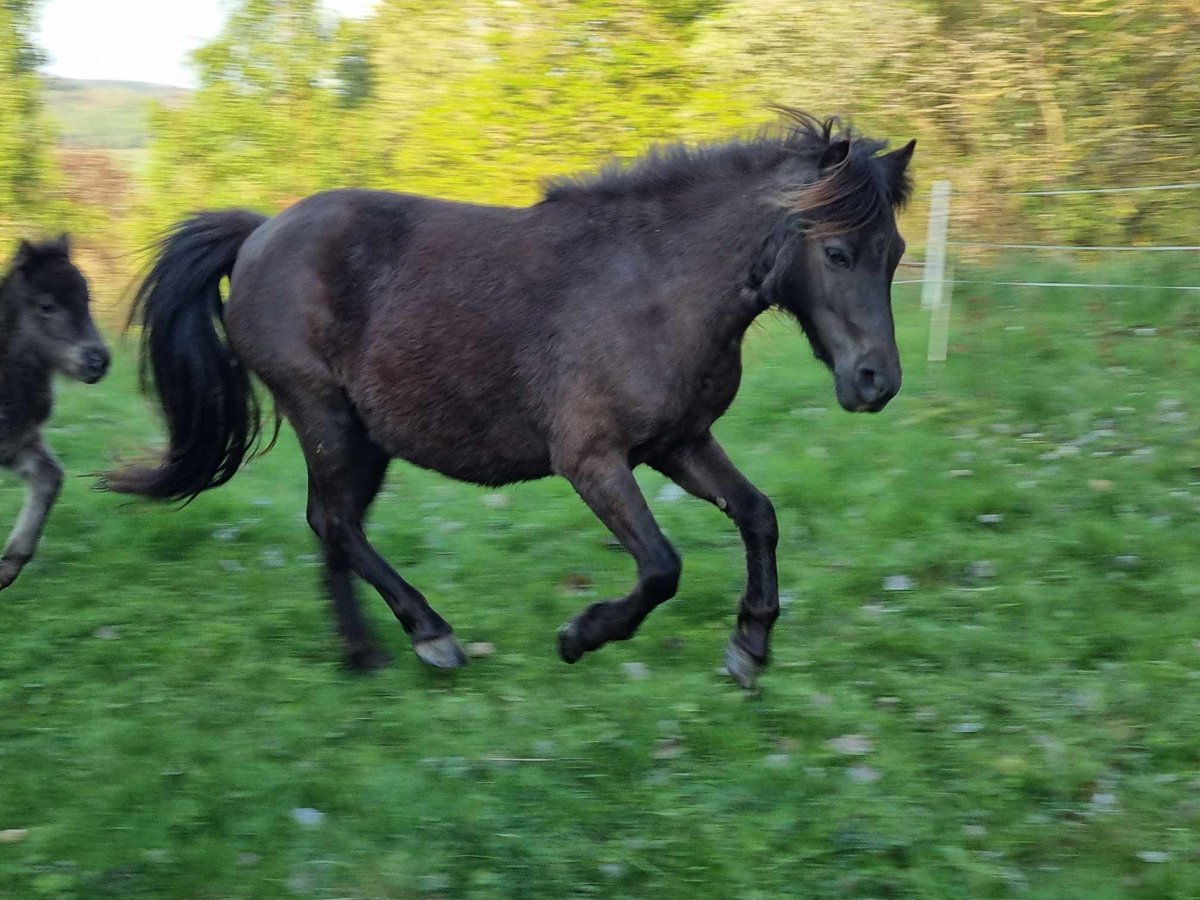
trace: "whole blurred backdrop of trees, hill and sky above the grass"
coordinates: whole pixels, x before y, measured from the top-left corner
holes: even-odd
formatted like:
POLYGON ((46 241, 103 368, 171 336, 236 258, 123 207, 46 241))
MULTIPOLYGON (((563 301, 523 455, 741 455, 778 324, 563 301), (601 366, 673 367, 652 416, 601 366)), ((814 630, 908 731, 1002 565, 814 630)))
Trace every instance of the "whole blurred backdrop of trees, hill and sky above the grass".
POLYGON ((977 240, 1200 234, 1195 192, 1020 193, 1195 180, 1193 0, 6 0, 0 17, 0 236, 77 232, 109 305, 121 256, 198 208, 346 185, 523 204, 612 155, 769 122, 773 102, 919 139, 911 246, 935 178, 977 240))

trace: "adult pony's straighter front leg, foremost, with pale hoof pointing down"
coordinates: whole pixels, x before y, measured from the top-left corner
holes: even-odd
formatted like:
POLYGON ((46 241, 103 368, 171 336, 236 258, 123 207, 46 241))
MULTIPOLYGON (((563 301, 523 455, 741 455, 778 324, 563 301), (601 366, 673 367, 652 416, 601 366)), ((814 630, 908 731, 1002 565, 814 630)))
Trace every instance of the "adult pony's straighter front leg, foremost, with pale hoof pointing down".
POLYGON ((715 504, 742 532, 746 589, 738 606, 738 628, 726 652, 726 666, 738 684, 750 688, 767 664, 770 629, 779 618, 775 509, 730 462, 712 434, 655 460, 653 466, 688 493, 715 504))

